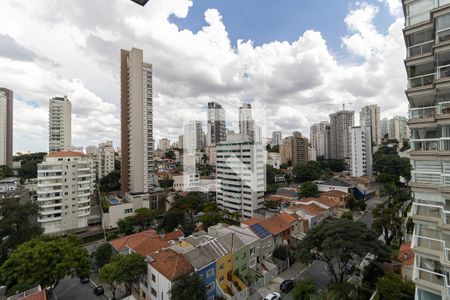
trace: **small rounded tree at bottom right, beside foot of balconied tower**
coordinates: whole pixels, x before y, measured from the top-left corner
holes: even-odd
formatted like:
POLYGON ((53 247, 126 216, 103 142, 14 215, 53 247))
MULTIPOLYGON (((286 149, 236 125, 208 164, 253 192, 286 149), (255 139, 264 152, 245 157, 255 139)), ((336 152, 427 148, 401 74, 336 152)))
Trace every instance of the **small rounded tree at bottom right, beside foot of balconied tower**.
POLYGON ((379 278, 376 286, 380 299, 414 299, 414 283, 403 281, 399 275, 392 272, 379 278))

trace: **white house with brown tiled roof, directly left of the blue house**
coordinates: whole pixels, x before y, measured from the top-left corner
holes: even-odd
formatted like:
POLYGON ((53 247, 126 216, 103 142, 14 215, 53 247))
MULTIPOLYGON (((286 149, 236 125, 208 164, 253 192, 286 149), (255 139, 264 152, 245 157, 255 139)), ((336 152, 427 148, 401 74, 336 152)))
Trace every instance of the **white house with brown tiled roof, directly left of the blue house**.
POLYGON ((140 297, 148 300, 170 299, 172 284, 194 271, 183 254, 164 249, 147 256, 147 276, 140 281, 140 297))

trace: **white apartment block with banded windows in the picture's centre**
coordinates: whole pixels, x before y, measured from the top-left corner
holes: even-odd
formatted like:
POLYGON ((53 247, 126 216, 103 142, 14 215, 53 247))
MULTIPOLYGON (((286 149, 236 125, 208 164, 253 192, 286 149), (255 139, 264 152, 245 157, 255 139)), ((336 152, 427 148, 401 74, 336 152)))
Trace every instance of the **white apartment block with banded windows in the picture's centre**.
POLYGON ((217 205, 228 212, 253 217, 264 204, 265 151, 247 135, 229 135, 216 145, 217 205))

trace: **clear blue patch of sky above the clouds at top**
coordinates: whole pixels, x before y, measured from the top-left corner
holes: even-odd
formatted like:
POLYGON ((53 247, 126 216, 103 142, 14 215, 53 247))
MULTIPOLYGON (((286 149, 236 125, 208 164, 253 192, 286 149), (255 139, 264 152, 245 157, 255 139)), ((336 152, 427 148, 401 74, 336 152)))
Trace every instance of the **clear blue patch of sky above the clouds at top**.
MULTIPOLYGON (((197 32, 204 21, 204 12, 216 8, 233 45, 238 39, 254 41, 255 45, 278 41, 295 41, 304 31, 320 31, 331 51, 341 53, 341 37, 346 35, 344 19, 356 6, 347 0, 194 0, 185 19, 172 16, 171 21, 181 29, 197 32)), ((394 21, 387 7, 379 1, 365 1, 376 4, 380 11, 375 25, 382 34, 394 21)), ((340 55, 338 55, 339 57, 340 55)))

